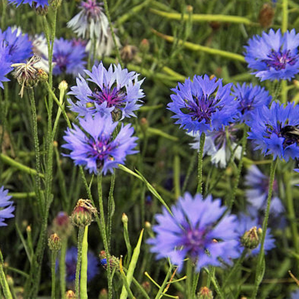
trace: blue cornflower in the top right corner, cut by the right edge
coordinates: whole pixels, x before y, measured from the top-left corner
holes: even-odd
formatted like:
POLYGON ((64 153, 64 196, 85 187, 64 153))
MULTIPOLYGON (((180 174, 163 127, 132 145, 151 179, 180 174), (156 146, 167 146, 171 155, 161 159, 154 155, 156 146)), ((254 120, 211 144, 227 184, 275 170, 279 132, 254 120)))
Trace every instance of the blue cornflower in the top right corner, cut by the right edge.
POLYGON ((245 60, 252 74, 263 80, 290 80, 299 72, 299 34, 295 29, 284 34, 278 29, 255 35, 245 46, 245 60))

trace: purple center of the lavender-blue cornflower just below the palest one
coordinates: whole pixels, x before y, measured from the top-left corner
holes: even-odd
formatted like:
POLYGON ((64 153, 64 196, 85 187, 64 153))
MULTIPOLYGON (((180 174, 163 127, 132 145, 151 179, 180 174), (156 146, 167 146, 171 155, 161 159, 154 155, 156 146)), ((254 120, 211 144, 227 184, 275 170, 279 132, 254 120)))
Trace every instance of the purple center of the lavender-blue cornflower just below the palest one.
POLYGON ((110 155, 113 150, 113 146, 109 139, 97 139, 96 141, 91 138, 88 141, 89 144, 89 156, 94 157, 97 160, 97 167, 100 169, 104 165, 104 160, 113 159, 110 155))

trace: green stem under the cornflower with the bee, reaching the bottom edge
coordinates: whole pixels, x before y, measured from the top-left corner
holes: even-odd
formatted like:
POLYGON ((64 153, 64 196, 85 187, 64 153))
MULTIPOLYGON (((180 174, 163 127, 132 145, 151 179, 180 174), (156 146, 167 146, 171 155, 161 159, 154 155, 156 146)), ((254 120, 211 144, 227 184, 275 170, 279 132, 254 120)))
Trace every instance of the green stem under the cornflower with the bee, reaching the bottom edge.
POLYGON ((271 168, 270 168, 270 178, 269 178, 269 191, 268 191, 268 198, 267 198, 267 208, 265 213, 265 218, 263 221, 263 233, 261 237, 260 242, 260 252, 257 258, 257 269, 255 274, 255 281, 254 281, 254 289, 252 293, 252 298, 257 297, 257 291, 259 288, 260 283, 263 280, 264 272, 265 272, 265 265, 264 265, 264 243, 265 243, 265 237, 266 237, 266 231, 267 231, 267 225, 268 225, 268 219, 269 219, 269 212, 270 212, 270 202, 272 198, 272 191, 273 191, 273 182, 274 182, 274 176, 275 176, 275 169, 277 165, 277 158, 272 161, 271 168))

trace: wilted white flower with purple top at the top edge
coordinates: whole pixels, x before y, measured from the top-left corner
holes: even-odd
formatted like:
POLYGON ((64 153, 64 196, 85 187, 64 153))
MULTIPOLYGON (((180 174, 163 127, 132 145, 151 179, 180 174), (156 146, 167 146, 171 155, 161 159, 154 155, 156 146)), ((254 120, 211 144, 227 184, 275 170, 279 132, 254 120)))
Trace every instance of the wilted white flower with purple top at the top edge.
POLYGON ((67 26, 78 36, 102 39, 107 36, 108 19, 103 13, 103 2, 86 0, 80 3, 80 12, 68 21, 67 26))

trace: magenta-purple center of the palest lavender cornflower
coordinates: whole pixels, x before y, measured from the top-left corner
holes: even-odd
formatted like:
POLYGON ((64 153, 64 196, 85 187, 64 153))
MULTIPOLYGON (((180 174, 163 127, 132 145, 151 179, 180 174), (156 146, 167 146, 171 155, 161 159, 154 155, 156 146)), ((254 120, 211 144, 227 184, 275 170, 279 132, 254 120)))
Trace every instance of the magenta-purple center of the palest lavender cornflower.
POLYGON ((126 94, 116 87, 113 89, 107 87, 104 87, 102 90, 95 89, 92 96, 98 104, 107 102, 107 107, 109 108, 113 106, 116 108, 120 107, 126 98, 126 94))

